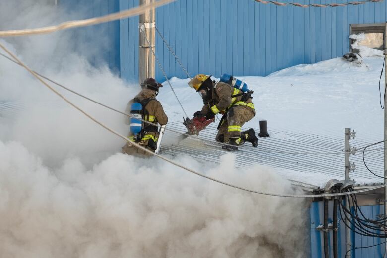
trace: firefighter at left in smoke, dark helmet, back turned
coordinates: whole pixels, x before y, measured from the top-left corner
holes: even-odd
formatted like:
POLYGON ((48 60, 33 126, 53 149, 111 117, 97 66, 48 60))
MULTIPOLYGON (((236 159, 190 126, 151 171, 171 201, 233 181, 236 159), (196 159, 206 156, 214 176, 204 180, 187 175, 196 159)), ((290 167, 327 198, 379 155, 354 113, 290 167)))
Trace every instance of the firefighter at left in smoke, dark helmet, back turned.
MULTIPOLYGON (((130 124, 130 132, 128 138, 140 144, 141 146, 154 152, 157 149, 158 127, 166 125, 168 117, 160 102, 156 100, 159 93, 159 88, 163 87, 153 78, 146 79, 141 83, 142 90, 128 102, 126 113, 131 114, 132 118, 126 119, 126 124, 130 124), (147 121, 142 122, 141 120, 147 121)), ((130 142, 127 142, 122 147, 122 152, 136 156, 151 156, 150 153, 136 148, 130 142)))

